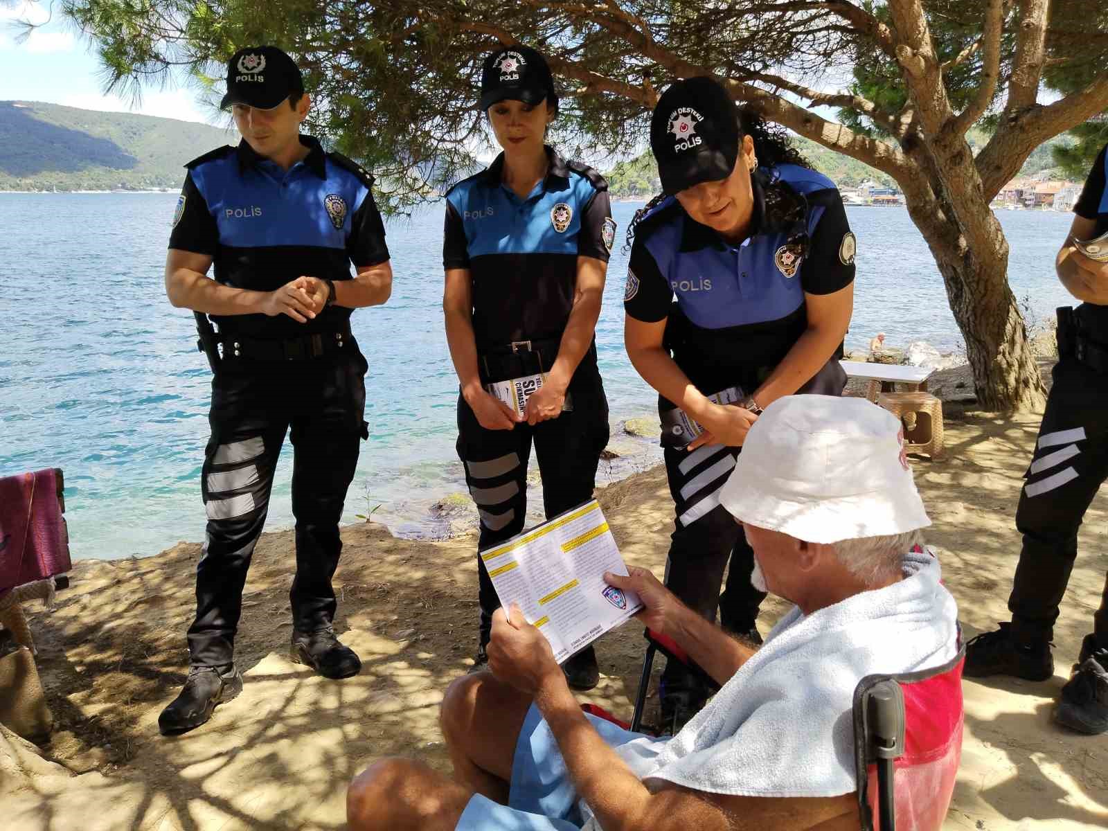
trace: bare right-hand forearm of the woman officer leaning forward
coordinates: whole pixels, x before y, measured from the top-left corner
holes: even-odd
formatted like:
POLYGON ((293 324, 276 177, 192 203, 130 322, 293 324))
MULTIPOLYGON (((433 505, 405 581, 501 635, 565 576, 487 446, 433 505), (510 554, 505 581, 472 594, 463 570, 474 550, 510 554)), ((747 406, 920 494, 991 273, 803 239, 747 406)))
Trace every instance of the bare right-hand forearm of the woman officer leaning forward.
POLYGON ((854 284, 830 295, 806 291, 804 306, 808 309, 808 328, 755 391, 755 401, 761 408, 799 390, 834 355, 847 336, 854 311, 854 284))

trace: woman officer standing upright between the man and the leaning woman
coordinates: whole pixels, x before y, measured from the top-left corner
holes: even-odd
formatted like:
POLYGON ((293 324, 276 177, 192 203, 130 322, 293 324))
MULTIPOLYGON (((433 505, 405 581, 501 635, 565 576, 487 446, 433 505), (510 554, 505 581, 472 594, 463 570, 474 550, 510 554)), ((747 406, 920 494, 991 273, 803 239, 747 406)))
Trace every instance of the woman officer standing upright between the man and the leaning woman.
MULTIPOLYGON (((504 152, 447 195, 443 245, 458 454, 480 511, 479 550, 523 529, 532 440, 547 517, 592 499, 608 440, 593 330, 615 238, 607 183, 544 144, 557 95, 538 52, 489 55, 480 106, 504 152), (516 382, 513 407, 489 391, 499 381, 516 382)), ((480 556, 478 573, 480 666, 500 602, 480 556)), ((563 669, 572 686, 593 687, 593 648, 563 669)))

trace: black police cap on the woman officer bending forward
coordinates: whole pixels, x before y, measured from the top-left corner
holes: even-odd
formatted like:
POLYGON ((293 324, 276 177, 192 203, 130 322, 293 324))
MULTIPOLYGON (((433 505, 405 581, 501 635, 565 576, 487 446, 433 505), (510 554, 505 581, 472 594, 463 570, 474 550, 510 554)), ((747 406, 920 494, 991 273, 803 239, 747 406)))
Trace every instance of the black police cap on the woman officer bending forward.
POLYGON ((739 155, 731 96, 710 78, 675 81, 654 107, 650 151, 667 194, 730 176, 739 155))

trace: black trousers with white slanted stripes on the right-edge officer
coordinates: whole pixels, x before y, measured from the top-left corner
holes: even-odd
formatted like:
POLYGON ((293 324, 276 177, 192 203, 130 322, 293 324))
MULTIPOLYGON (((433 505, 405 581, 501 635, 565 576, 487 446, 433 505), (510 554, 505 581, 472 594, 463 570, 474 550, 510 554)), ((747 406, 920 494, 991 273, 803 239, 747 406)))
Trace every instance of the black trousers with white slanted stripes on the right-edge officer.
MULTIPOLYGON (((1108 373, 1071 357, 1058 361, 1025 479, 1016 510, 1024 545, 1008 609, 1017 639, 1044 643, 1077 558, 1077 530, 1108 479, 1108 373)), ((1108 583, 1094 626, 1108 646, 1108 583)))

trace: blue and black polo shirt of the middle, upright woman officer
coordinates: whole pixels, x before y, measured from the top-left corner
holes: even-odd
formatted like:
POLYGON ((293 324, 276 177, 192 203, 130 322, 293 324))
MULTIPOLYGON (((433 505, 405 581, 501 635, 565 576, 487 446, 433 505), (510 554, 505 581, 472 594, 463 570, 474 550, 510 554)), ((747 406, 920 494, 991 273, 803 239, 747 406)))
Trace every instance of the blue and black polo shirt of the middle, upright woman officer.
MULTIPOLYGON (((479 352, 558 341, 573 309, 577 257, 611 256, 616 224, 607 182, 552 147, 546 154, 546 176, 525 199, 501 182, 503 153, 447 193, 442 263, 470 270, 479 352)), ((594 338, 570 389, 596 373, 594 338)))

